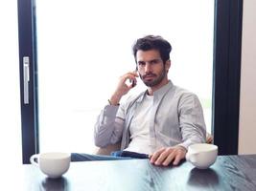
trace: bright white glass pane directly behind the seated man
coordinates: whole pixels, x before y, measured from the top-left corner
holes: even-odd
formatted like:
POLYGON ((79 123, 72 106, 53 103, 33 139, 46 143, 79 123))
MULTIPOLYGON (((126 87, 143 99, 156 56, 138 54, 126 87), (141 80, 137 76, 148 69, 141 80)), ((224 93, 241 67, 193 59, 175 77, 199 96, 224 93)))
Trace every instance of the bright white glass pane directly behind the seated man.
POLYGON ((146 34, 172 43, 169 77, 199 96, 211 132, 214 0, 36 1, 36 24, 41 152, 94 151, 96 118, 146 34))

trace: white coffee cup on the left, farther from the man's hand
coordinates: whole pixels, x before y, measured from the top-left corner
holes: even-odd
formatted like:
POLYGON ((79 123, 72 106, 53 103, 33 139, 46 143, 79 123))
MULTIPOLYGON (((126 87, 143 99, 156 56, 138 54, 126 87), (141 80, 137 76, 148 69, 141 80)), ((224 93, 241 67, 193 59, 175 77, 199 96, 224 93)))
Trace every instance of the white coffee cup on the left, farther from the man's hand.
POLYGON ((38 166, 45 175, 53 179, 59 178, 67 172, 70 160, 70 153, 60 152, 35 154, 30 158, 32 164, 38 166))

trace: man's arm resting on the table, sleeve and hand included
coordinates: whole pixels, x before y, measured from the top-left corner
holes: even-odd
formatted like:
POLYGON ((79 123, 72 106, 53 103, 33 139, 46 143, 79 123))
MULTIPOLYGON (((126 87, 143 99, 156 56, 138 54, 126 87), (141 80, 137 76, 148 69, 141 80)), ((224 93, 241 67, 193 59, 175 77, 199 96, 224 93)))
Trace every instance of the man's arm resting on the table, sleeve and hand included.
POLYGON ((178 113, 182 142, 154 152, 151 155, 152 164, 167 166, 173 163, 177 165, 181 159, 185 159, 187 148, 191 144, 205 142, 205 123, 198 96, 193 94, 181 96, 178 113))

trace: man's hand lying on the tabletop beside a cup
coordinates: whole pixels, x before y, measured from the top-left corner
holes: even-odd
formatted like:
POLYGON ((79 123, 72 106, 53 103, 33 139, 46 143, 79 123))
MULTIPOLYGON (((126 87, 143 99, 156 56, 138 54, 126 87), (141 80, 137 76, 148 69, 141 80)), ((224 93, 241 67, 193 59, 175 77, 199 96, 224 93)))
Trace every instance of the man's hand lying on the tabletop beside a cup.
POLYGON ((150 156, 151 163, 154 165, 168 166, 171 162, 177 165, 181 159, 185 159, 187 150, 182 146, 165 147, 150 156))

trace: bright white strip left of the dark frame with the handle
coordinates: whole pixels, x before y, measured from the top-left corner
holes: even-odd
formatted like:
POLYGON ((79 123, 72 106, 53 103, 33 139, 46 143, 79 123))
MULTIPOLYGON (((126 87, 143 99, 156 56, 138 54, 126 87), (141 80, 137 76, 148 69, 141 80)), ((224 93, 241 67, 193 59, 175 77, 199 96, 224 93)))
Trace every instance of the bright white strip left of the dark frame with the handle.
POLYGON ((1 169, 7 161, 22 161, 16 0, 0 1, 0 24, 0 151, 6 156, 1 169))

